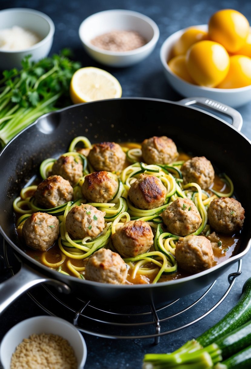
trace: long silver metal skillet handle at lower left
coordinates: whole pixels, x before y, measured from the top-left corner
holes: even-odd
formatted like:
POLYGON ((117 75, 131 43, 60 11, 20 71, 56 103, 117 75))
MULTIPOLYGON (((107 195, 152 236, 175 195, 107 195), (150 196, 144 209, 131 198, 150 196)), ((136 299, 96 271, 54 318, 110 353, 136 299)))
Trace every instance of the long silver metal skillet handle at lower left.
POLYGON ((60 292, 71 292, 67 284, 45 277, 38 272, 34 272, 28 265, 22 265, 17 274, 0 284, 0 315, 15 299, 21 296, 21 294, 40 283, 52 284, 60 292))

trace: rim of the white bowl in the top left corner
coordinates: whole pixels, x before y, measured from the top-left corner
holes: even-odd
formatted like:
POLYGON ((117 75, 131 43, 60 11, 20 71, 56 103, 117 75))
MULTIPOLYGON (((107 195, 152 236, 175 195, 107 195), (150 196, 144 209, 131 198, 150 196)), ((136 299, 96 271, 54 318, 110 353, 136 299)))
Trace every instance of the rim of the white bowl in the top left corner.
POLYGON ((47 34, 47 36, 45 36, 41 41, 37 42, 36 44, 32 45, 31 47, 29 48, 26 48, 26 49, 20 49, 20 50, 1 50, 0 49, 0 52, 4 52, 4 53, 8 53, 8 54, 15 54, 15 53, 18 53, 18 52, 23 52, 23 51, 32 51, 36 48, 39 48, 39 46, 41 46, 42 44, 45 44, 47 42, 47 39, 49 38, 52 38, 53 35, 54 35, 54 32, 55 32, 55 25, 52 21, 52 19, 49 17, 49 15, 43 13, 42 11, 39 11, 39 10, 35 10, 35 9, 30 9, 30 8, 8 8, 8 9, 3 9, 0 11, 0 14, 1 13, 30 13, 30 14, 36 14, 36 15, 39 15, 40 17, 44 18, 48 24, 49 24, 49 27, 50 27, 50 30, 49 30, 49 33, 47 34))

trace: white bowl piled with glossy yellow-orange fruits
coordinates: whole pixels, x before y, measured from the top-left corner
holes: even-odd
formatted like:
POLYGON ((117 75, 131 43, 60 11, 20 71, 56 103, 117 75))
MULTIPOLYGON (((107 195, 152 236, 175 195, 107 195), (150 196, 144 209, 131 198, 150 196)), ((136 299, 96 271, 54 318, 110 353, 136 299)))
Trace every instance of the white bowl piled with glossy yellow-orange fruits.
POLYGON ((181 96, 237 108, 251 101, 251 28, 233 9, 170 35, 160 48, 167 81, 181 96))

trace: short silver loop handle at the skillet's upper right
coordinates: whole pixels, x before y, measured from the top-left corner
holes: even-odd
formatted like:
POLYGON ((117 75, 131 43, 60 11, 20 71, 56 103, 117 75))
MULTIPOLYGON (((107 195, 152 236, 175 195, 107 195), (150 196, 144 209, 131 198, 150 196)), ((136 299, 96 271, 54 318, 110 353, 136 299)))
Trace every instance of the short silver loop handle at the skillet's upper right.
POLYGON ((216 111, 217 113, 225 114, 232 119, 233 127, 236 128, 238 131, 241 130, 243 124, 243 118, 241 114, 237 110, 231 108, 226 104, 219 103, 219 101, 211 100, 206 97, 188 97, 187 99, 182 99, 178 101, 178 103, 186 106, 198 104, 204 108, 216 111))

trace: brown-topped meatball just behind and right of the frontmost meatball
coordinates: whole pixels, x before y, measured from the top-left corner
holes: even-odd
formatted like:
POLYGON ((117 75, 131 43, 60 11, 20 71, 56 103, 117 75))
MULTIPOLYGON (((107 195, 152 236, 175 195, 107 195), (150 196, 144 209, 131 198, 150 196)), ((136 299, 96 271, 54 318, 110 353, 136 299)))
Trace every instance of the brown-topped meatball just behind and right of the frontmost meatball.
POLYGON ((112 243, 121 256, 132 258, 148 252, 153 245, 153 232, 145 221, 131 220, 116 230, 112 243))

